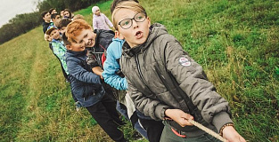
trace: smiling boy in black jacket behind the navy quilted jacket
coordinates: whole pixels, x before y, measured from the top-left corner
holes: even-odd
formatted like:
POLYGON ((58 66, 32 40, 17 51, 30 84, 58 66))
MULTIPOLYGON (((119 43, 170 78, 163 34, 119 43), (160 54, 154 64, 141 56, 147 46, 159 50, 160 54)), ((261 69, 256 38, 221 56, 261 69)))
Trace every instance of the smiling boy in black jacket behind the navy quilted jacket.
MULTIPOLYGON (((105 51, 112 42, 114 32, 104 29, 93 29, 86 20, 74 20, 78 27, 67 27, 67 36, 71 42, 83 43, 88 49, 87 63, 92 67, 94 74, 100 75, 103 79, 103 61, 105 59, 105 51)), ((114 96, 113 88, 102 80, 104 90, 114 96)))

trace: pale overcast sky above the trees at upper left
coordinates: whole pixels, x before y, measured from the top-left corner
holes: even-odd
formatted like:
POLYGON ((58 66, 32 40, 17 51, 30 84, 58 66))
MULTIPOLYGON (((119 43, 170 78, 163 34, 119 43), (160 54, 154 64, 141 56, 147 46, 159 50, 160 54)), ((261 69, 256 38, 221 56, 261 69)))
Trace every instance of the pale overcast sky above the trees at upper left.
POLYGON ((35 12, 40 0, 0 0, 0 28, 16 14, 35 12))

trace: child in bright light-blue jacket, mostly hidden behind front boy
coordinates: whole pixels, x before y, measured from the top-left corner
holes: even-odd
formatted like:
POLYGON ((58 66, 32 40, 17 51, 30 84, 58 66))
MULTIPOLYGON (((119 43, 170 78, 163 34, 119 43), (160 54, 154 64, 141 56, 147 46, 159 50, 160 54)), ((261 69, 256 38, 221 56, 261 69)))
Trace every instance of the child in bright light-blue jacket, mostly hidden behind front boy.
MULTIPOLYGON (((119 32, 116 32, 115 35, 117 38, 112 39, 112 43, 110 44, 106 52, 107 55, 106 60, 103 64, 102 75, 105 83, 110 84, 112 87, 119 91, 126 91, 127 80, 121 73, 119 66, 122 45, 125 40, 121 39, 121 36, 119 36, 119 32)), ((123 109, 118 109, 118 107, 117 109, 124 116, 128 116, 127 119, 132 122, 135 130, 141 133, 144 138, 148 139, 149 141, 159 142, 163 124, 161 122, 157 122, 150 118, 147 118, 146 116, 144 116, 144 114, 136 111, 135 104, 133 103, 132 99, 130 99, 128 94, 126 94, 125 96, 121 96, 121 94, 119 94, 119 101, 127 107, 127 112, 124 112, 123 109), (139 123, 141 123, 142 126, 139 123)))

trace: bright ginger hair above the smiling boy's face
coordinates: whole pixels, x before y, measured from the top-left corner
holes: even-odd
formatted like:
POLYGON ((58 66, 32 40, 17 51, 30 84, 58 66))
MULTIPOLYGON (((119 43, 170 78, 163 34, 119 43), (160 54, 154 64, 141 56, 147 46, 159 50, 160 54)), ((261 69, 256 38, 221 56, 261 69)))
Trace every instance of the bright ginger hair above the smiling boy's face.
POLYGON ((70 22, 66 29, 66 36, 68 37, 68 40, 70 42, 77 43, 75 37, 79 36, 81 30, 83 29, 92 29, 91 26, 86 22, 86 20, 79 19, 70 22))

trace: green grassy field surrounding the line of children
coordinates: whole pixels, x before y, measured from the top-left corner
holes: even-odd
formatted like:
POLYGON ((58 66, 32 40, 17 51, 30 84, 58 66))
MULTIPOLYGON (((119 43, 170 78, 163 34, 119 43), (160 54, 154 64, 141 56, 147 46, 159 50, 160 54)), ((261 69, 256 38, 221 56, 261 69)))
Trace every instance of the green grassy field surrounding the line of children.
MULTIPOLYGON (((110 1, 100 2, 111 19, 110 1)), ((141 0, 206 71, 249 141, 279 141, 279 2, 141 0)), ((92 25, 91 7, 75 12, 92 25)), ((42 27, 0 45, 0 141, 111 141, 70 85, 42 27)), ((127 138, 131 126, 122 128, 127 138)))

